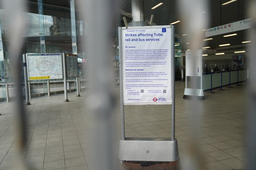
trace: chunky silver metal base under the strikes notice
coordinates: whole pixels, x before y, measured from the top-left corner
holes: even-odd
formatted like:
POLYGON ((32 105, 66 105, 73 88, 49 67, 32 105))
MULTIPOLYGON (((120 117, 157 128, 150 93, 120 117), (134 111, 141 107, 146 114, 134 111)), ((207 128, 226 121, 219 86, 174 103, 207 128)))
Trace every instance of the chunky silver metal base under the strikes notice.
POLYGON ((121 161, 175 162, 179 160, 177 139, 125 138, 119 141, 121 161))

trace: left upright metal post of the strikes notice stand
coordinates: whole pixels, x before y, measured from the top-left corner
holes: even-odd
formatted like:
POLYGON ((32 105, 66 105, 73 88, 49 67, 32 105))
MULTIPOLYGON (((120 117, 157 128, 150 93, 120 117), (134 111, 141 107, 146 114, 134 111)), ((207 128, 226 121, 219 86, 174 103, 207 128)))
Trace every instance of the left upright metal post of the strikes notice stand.
POLYGON ((124 91, 123 91, 123 51, 122 51, 122 27, 118 27, 119 43, 119 89, 120 89, 120 108, 121 108, 121 139, 125 139, 124 129, 124 91))

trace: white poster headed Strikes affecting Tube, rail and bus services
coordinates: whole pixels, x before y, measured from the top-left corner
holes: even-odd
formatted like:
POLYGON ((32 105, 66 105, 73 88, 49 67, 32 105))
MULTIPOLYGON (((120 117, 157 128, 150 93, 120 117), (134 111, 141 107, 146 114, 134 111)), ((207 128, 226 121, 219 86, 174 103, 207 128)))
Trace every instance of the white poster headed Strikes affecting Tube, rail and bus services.
POLYGON ((171 104, 171 26, 122 28, 124 104, 171 104))

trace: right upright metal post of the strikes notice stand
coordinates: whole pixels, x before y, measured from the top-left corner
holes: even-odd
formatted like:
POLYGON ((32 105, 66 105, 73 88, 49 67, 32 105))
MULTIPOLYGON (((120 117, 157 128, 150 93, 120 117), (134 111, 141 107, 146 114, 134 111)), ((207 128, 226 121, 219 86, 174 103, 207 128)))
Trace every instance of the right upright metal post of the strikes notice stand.
POLYGON ((172 140, 175 140, 175 67, 174 67, 174 25, 171 26, 171 61, 172 61, 172 140))

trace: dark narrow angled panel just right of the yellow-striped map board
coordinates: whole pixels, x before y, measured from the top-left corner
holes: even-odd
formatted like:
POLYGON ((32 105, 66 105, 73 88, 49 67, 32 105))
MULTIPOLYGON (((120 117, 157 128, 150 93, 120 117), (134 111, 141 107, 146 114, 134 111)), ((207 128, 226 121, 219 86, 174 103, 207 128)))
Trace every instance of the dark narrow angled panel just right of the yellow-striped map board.
POLYGON ((78 76, 77 55, 66 54, 67 78, 78 76))

